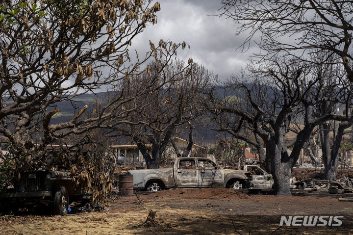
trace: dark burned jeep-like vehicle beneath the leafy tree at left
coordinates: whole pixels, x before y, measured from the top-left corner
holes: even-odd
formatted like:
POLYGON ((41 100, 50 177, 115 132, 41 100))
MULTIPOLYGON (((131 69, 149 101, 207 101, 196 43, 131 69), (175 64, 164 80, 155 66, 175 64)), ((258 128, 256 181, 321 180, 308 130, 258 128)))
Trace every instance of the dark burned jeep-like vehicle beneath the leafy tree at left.
POLYGON ((55 214, 66 215, 70 203, 88 202, 91 195, 76 191, 73 179, 66 172, 26 171, 19 174, 14 188, 7 189, 0 197, 1 209, 7 213, 43 205, 55 214))

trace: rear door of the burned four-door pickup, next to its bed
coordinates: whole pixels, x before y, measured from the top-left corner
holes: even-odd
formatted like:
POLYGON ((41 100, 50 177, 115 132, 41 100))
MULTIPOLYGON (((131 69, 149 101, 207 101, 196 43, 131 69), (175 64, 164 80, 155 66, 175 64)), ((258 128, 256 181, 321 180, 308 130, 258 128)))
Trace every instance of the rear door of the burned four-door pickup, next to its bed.
POLYGON ((180 159, 175 172, 176 186, 197 187, 198 175, 194 159, 180 159))

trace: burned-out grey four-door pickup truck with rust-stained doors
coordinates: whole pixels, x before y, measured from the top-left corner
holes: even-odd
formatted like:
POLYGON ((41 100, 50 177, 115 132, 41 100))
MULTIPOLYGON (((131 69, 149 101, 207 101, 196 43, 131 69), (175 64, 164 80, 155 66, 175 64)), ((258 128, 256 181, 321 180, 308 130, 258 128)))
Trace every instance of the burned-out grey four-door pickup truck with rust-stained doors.
POLYGON ((204 157, 179 157, 174 168, 130 170, 134 189, 160 191, 174 187, 248 188, 252 180, 249 171, 226 170, 204 157))

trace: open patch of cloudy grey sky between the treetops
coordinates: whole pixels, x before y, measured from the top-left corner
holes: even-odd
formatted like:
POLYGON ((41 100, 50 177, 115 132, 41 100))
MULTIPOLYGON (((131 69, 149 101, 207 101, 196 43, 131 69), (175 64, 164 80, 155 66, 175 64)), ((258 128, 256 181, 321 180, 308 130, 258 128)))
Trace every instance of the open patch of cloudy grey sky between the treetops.
POLYGON ((154 26, 148 26, 132 47, 139 54, 146 52, 149 40, 158 44, 160 39, 187 42, 190 49, 178 52, 184 60, 193 58, 207 69, 218 74, 222 80, 237 74, 246 60, 257 50, 250 48, 243 53, 236 50, 247 35, 236 36, 237 27, 231 20, 217 15, 221 0, 160 0, 161 11, 154 26))

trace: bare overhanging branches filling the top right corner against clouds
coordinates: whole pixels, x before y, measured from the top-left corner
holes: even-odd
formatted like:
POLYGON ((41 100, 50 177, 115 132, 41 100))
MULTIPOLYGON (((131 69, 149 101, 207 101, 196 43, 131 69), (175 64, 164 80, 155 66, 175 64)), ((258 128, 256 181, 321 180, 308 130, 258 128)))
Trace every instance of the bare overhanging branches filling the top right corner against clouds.
POLYGON ((239 24, 238 33, 249 35, 243 50, 258 35, 257 43, 266 54, 284 52, 301 59, 312 49, 337 54, 353 82, 352 1, 222 0, 222 4, 221 15, 239 24))

